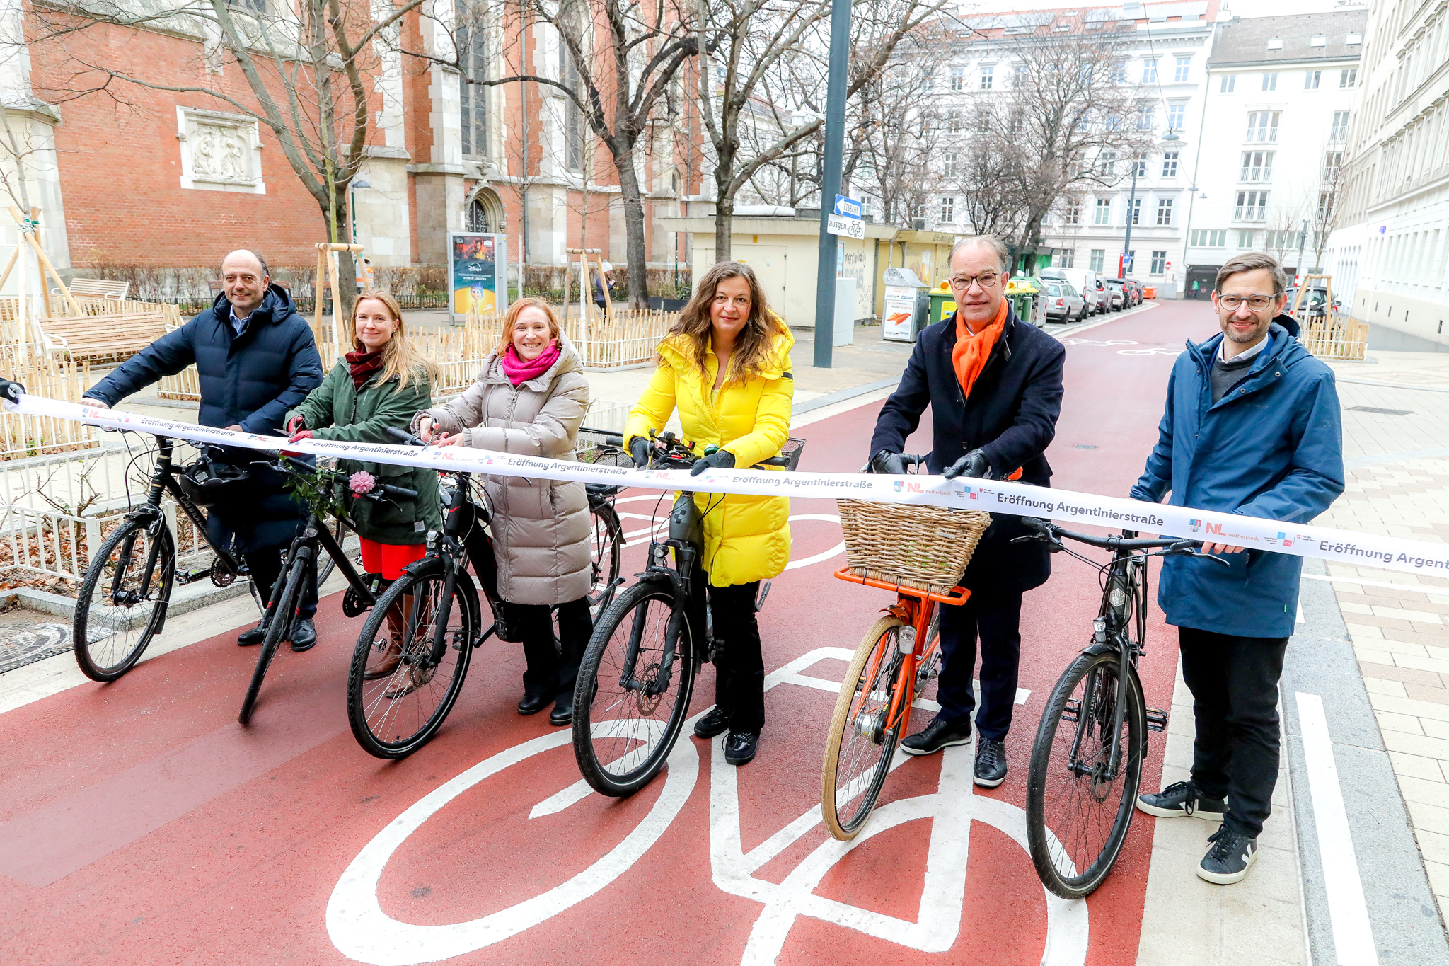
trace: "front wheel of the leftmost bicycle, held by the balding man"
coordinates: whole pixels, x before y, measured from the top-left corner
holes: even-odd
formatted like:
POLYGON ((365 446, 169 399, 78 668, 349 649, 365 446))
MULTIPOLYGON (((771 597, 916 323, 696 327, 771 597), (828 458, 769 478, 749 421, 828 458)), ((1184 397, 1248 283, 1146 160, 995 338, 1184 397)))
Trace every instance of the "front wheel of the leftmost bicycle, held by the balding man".
POLYGON ((114 681, 141 659, 167 620, 177 553, 158 520, 126 520, 100 545, 75 598, 75 663, 91 681, 114 681))

